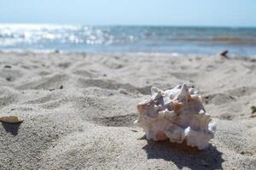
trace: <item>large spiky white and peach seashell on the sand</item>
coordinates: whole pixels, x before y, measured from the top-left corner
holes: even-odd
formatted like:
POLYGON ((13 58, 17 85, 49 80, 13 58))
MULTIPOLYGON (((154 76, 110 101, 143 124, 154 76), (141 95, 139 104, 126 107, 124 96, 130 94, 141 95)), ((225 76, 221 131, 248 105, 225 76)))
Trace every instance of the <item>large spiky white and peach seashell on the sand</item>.
POLYGON ((171 142, 207 148, 216 132, 216 123, 206 113, 201 96, 186 84, 166 91, 151 88, 151 98, 137 104, 138 119, 147 139, 169 139, 171 142))

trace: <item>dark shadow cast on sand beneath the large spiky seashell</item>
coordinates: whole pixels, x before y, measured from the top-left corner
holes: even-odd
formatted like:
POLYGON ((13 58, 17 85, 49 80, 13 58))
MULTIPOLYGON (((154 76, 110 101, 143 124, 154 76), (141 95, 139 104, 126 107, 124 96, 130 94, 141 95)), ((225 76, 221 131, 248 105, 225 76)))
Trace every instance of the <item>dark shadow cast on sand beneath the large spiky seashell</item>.
POLYGON ((146 150, 148 159, 172 161, 179 169, 183 167, 193 170, 223 169, 222 153, 212 144, 206 150, 197 150, 197 148, 188 147, 184 143, 174 144, 169 141, 154 142, 148 140, 148 144, 143 146, 143 150, 146 150))

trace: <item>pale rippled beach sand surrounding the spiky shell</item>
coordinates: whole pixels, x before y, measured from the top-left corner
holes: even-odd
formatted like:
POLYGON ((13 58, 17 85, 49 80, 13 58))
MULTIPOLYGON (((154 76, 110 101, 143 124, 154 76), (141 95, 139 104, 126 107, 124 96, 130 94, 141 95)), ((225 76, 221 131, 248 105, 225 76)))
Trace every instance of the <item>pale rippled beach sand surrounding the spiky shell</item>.
POLYGON ((0 169, 256 169, 256 59, 0 53, 0 169), (218 131, 207 150, 134 127, 151 86, 195 86, 218 131))

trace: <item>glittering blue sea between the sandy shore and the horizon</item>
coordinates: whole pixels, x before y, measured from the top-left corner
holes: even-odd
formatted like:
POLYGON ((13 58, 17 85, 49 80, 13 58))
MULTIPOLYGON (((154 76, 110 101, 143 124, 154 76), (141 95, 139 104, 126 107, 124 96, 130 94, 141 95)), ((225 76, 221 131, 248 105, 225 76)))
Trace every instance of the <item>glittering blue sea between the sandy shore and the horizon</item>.
POLYGON ((0 50, 256 54, 256 28, 0 24, 0 50))

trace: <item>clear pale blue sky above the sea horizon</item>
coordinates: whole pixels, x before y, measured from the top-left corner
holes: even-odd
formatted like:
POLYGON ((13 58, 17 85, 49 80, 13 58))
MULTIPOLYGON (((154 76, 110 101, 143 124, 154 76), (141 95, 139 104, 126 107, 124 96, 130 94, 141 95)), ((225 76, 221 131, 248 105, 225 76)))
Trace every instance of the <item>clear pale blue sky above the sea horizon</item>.
POLYGON ((0 23, 256 26, 256 0, 0 0, 0 23))

